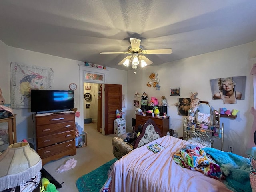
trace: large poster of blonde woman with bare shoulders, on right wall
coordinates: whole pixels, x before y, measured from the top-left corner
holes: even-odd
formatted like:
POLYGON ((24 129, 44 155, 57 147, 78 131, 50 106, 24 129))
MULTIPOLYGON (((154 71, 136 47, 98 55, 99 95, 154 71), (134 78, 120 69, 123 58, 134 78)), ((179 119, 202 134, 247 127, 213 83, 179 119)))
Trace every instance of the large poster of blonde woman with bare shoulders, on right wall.
POLYGON ((246 76, 211 79, 210 83, 213 99, 222 99, 224 104, 244 100, 246 76))

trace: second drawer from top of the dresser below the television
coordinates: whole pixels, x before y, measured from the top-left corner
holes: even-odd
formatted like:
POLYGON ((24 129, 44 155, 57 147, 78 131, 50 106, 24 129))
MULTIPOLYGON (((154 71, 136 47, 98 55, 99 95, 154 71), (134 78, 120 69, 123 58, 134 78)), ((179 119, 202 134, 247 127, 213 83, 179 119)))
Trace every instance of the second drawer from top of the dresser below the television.
POLYGON ((75 130, 74 121, 37 126, 36 136, 41 137, 49 134, 70 131, 70 130, 75 130))

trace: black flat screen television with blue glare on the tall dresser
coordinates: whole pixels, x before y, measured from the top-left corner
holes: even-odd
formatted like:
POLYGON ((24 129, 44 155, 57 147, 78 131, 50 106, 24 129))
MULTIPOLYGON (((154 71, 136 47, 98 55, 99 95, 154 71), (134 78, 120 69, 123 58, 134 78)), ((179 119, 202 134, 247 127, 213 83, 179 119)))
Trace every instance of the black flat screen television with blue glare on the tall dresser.
POLYGON ((72 90, 31 90, 31 112, 69 110, 74 108, 72 90))

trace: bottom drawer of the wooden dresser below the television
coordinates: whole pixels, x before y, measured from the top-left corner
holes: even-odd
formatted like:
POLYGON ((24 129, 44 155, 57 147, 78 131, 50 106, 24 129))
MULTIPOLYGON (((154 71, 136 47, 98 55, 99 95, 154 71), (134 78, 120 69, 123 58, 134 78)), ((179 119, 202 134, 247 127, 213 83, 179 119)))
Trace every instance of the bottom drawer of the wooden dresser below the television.
POLYGON ((52 156, 54 154, 58 154, 60 152, 69 150, 69 149, 76 148, 75 145, 76 145, 75 140, 70 140, 70 141, 67 141, 67 142, 63 142, 63 143, 59 143, 59 144, 55 144, 55 145, 52 145, 52 146, 48 146, 48 147, 38 149, 37 153, 39 154, 39 156, 41 158, 45 158, 45 157, 52 156))

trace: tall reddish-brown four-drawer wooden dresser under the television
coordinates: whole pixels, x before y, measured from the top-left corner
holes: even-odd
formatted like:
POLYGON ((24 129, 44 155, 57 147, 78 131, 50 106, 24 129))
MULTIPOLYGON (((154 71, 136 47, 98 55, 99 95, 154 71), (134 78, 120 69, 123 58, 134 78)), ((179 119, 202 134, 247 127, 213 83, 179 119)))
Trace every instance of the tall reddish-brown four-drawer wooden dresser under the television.
POLYGON ((36 116, 36 146, 42 164, 76 154, 75 114, 36 116))

